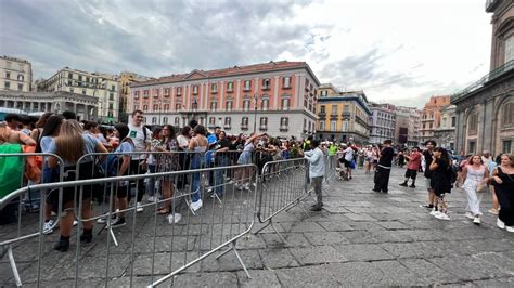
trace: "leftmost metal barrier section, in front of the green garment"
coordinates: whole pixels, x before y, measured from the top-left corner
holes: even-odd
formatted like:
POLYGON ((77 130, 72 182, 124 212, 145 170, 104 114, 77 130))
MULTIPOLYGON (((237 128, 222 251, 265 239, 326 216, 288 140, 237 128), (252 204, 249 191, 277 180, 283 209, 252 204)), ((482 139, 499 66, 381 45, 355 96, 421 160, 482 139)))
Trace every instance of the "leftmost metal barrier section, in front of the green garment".
MULTIPOLYGON (((10 173, 12 173, 11 175, 13 178, 18 178, 18 180, 15 180, 15 181, 20 183, 18 185, 20 188, 13 192, 3 191, 2 195, 5 195, 5 196, 3 198, 0 198, 0 209, 12 209, 14 208, 14 206, 17 205, 16 223, 13 225, 4 224, 2 227, 2 233, 5 233, 5 234, 2 234, 2 236, 0 236, 0 259, 2 259, 5 254, 8 254, 10 266, 11 266, 16 286, 22 286, 22 280, 20 278, 16 261, 14 259, 13 248, 15 248, 14 247, 15 245, 18 245, 23 241, 27 241, 35 237, 39 237, 39 245, 37 249, 37 256, 38 256, 37 273, 38 275, 40 273, 41 263, 39 262, 39 257, 42 254, 43 232, 44 232, 43 221, 44 219, 50 219, 51 211, 55 209, 52 209, 52 205, 47 204, 47 196, 50 193, 50 191, 37 188, 37 185, 35 185, 34 183, 43 183, 44 181, 62 182, 63 176, 64 176, 64 168, 62 166, 54 170, 50 170, 46 167, 46 158, 50 156, 55 157, 59 162, 63 162, 61 157, 54 154, 50 154, 50 153, 0 154, 0 159, 3 158, 4 160, 9 160, 11 158, 18 158, 18 160, 22 162, 22 166, 17 167, 18 168, 17 171, 9 171, 10 173), (25 171, 27 167, 29 166, 27 163, 27 159, 29 157, 33 157, 31 161, 36 159, 35 157, 39 157, 38 161, 42 160, 43 162, 42 167, 37 167, 37 166, 34 167, 35 169, 40 169, 40 174, 39 174, 38 180, 36 179, 27 180, 25 178, 25 171), (44 179, 49 176, 51 179, 44 179), (39 198, 37 198, 36 196, 39 196, 39 198), (36 204, 38 205, 39 221, 36 221, 37 219, 34 217, 34 213, 30 214, 30 213, 23 212, 25 210, 25 204, 27 201, 30 208, 36 204), (22 232, 22 227, 24 228, 24 231, 30 231, 30 232, 24 233, 22 232), (10 236, 5 236, 5 235, 10 235, 10 236)), ((7 168, 2 167, 1 169, 7 169, 7 168)), ((62 199, 62 193, 63 193, 62 189, 60 189, 59 192, 55 191, 53 193, 57 193, 59 199, 62 199)), ((55 211, 57 213, 57 217, 56 217, 56 220, 51 225, 50 230, 53 230, 59 225, 59 219, 60 219, 59 215, 61 214, 61 211, 62 211, 62 201, 57 200, 57 207, 55 211)))

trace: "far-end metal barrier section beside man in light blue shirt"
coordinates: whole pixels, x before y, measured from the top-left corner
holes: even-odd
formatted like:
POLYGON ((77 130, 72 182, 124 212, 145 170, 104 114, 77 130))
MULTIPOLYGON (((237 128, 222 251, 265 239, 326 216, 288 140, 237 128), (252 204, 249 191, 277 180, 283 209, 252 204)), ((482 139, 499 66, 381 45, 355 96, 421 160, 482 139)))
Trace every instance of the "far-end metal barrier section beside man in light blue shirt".
POLYGON ((273 225, 273 217, 298 205, 309 195, 307 168, 307 160, 304 158, 270 161, 262 167, 257 218, 266 225, 255 234, 271 226, 282 241, 286 243, 273 225))

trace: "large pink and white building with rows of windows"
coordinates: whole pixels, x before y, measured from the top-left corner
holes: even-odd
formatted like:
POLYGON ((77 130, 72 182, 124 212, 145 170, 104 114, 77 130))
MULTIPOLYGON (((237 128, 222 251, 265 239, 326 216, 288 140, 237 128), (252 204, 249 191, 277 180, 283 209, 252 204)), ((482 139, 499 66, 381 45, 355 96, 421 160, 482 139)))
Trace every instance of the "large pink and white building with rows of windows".
POLYGON ((133 83, 130 112, 143 110, 146 125, 183 127, 196 119, 228 134, 304 138, 316 133, 318 87, 305 62, 193 70, 133 83))

